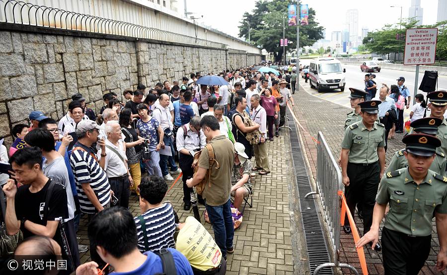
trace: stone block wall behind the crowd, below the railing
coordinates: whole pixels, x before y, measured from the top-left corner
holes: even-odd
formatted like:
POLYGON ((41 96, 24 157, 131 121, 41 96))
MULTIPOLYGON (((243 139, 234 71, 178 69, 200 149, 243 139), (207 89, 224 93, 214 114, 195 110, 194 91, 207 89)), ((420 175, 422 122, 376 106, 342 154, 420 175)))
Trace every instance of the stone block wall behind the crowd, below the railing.
POLYGON ((135 90, 138 83, 153 87, 191 72, 217 73, 261 60, 227 49, 98 37, 0 32, 0 137, 7 146, 13 141, 11 128, 28 123, 31 111, 58 120, 76 92, 98 112, 107 92, 123 99, 122 91, 135 90))

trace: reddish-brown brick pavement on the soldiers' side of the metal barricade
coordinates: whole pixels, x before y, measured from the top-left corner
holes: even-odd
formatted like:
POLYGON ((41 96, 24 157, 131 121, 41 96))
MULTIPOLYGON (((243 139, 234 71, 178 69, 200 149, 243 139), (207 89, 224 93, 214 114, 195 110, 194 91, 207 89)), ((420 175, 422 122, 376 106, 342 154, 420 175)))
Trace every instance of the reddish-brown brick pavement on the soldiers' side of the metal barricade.
MULTIPOLYGON (((343 107, 338 104, 334 104, 328 100, 311 95, 316 90, 310 89, 308 83, 304 83, 304 80, 300 78, 300 92, 295 92, 295 108, 294 112, 297 115, 299 123, 303 129, 299 129, 302 141, 305 147, 305 154, 310 163, 310 170, 314 179, 316 178, 316 139, 318 131, 321 131, 326 138, 326 141, 331 148, 332 154, 335 159, 338 159, 340 155, 340 143, 344 134, 344 121, 347 112, 352 109, 343 107), (303 91, 303 89, 305 91, 303 91)), ((346 95, 346 101, 349 102, 349 90, 346 89, 344 94, 346 95)), ((388 150, 386 153, 386 164, 391 160, 393 153, 397 150, 404 148, 404 144, 401 142, 403 134, 396 134, 396 138, 389 141, 388 150)), ((363 233, 363 224, 360 218, 355 215, 357 227, 359 232, 363 233)), ((436 234, 436 227, 434 226, 434 232, 432 234, 432 249, 430 256, 426 262, 426 266, 422 269, 420 274, 446 274, 436 271, 436 259, 439 250, 439 240, 436 234)), ((382 275, 383 265, 381 253, 373 252, 370 248, 364 248, 365 256, 367 258, 368 272, 371 275, 382 275)), ((340 262, 348 263, 357 268, 359 272, 360 263, 357 257, 357 252, 354 247, 354 240, 352 235, 347 235, 341 230, 341 246, 340 246, 340 262)), ((343 274, 350 274, 350 270, 343 269, 343 274)))

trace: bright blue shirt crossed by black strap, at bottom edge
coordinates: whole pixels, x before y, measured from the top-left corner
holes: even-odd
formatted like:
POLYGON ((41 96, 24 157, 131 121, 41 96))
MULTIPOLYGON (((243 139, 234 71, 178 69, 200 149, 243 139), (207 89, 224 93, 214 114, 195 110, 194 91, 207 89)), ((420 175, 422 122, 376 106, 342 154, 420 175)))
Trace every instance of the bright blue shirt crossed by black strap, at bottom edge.
MULTIPOLYGON (((167 249, 174 258, 175 269, 177 270, 177 275, 193 275, 191 265, 189 264, 186 257, 175 249, 167 249)), ((161 258, 158 257, 153 252, 145 252, 144 255, 148 256, 146 261, 138 269, 131 272, 114 272, 114 275, 153 275, 153 274, 163 274, 163 266, 161 263, 161 258)))

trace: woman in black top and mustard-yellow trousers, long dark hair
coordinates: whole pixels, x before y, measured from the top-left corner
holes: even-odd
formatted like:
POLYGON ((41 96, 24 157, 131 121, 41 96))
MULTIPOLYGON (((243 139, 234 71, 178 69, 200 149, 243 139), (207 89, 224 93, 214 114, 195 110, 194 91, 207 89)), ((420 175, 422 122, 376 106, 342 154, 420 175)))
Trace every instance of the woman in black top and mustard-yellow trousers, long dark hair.
POLYGON ((132 110, 130 108, 124 108, 121 111, 119 123, 124 135, 124 142, 126 143, 127 165, 132 179, 134 180, 131 190, 140 195, 138 192, 138 185, 140 185, 141 182, 141 145, 145 140, 144 138, 139 137, 137 131, 131 126, 132 110))

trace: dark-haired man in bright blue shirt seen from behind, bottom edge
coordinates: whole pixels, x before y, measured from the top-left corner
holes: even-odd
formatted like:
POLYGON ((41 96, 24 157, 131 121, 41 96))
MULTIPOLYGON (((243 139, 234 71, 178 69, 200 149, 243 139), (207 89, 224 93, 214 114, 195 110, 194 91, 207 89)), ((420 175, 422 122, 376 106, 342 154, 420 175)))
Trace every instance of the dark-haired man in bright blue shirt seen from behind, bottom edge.
POLYGON ((129 210, 112 207, 99 212, 88 225, 91 250, 113 267, 114 274, 124 275, 193 275, 188 260, 175 249, 156 254, 138 250, 137 226, 129 210))

